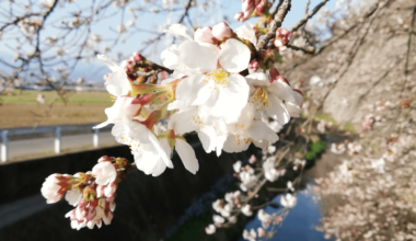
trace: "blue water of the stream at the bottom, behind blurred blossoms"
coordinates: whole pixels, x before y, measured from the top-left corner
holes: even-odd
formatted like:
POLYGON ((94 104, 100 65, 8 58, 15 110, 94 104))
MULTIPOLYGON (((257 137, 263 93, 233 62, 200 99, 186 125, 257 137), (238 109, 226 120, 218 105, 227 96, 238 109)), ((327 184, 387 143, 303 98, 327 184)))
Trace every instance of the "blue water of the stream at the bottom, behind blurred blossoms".
MULTIPOLYGON (((280 195, 273 199, 275 203, 280 204, 280 195)), ((273 208, 267 206, 264 210, 267 214, 274 214, 280 208, 273 208)), ((298 193, 298 203, 289 211, 284 220, 281 227, 275 233, 271 239, 273 241, 326 241, 324 234, 315 230, 315 226, 319 225, 321 219, 321 214, 319 209, 319 203, 313 199, 313 195, 307 190, 298 193)), ((257 230, 262 223, 256 216, 253 220, 246 223, 245 229, 251 230, 254 228, 257 230)), ((269 228, 270 229, 270 228, 269 228)), ((267 230, 269 230, 267 229, 267 230)), ((257 238, 256 240, 266 240, 263 238, 257 238)), ((240 239, 239 241, 244 241, 240 239)))

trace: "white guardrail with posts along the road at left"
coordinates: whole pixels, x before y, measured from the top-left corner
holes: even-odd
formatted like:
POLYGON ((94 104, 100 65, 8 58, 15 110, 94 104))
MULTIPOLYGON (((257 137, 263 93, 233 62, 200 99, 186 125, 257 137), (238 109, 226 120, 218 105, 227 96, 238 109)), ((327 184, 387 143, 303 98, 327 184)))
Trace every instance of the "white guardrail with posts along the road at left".
MULTIPOLYGON (((22 135, 36 135, 36 134, 55 134, 54 150, 55 153, 60 153, 61 151, 61 133, 86 133, 91 131, 92 127, 97 124, 88 125, 60 125, 60 126, 38 126, 36 128, 11 128, 0 130, 1 136, 1 148, 0 148, 0 159, 2 162, 7 162, 9 159, 9 137, 11 136, 22 136, 22 135)), ((92 145, 99 147, 99 129, 93 129, 92 133, 92 145)))

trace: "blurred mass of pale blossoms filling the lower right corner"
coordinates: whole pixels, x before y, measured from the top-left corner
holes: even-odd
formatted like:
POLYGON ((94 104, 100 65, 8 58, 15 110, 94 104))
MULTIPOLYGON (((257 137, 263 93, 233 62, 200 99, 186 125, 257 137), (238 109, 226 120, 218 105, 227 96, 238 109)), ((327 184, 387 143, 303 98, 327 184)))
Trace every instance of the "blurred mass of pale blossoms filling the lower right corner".
POLYGON ((326 238, 416 239, 416 226, 409 218, 416 213, 416 180, 413 174, 416 169, 415 135, 409 115, 398 120, 395 117, 397 111, 409 108, 411 103, 409 97, 375 102, 371 110, 378 116, 372 113, 365 116, 361 144, 332 147, 336 153, 348 149, 349 159, 344 160, 326 177, 315 180, 317 185, 314 192, 325 207, 320 230, 325 232, 326 238), (392 104, 403 102, 406 104, 392 104), (334 202, 334 196, 342 202, 334 202))

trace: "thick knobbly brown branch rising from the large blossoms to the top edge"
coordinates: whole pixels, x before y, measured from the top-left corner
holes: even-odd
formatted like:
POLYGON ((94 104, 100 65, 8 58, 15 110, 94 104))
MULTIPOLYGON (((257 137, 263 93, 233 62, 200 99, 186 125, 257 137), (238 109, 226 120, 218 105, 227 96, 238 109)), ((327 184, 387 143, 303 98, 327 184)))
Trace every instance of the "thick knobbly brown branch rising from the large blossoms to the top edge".
POLYGON ((284 22, 286 14, 288 14, 288 12, 290 11, 290 8, 291 0, 284 0, 277 13, 273 15, 274 18, 270 22, 268 32, 261 39, 258 39, 256 46, 257 50, 264 49, 267 46, 268 42, 275 37, 277 28, 281 26, 281 23, 284 22))

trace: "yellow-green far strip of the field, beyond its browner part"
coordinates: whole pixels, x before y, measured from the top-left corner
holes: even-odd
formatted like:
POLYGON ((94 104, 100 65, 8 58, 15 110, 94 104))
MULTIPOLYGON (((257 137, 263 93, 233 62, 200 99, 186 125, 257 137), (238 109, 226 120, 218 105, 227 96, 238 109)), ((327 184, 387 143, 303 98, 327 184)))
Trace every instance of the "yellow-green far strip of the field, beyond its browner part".
MULTIPOLYGON (((36 104, 37 94, 45 95, 47 103, 50 103, 58 95, 55 91, 20 91, 14 90, 11 94, 0 95, 0 103, 18 104, 34 103, 36 104)), ((107 92, 67 92, 67 104, 108 104, 112 105, 111 97, 107 92)), ((63 104, 58 96, 56 104, 63 104)))

